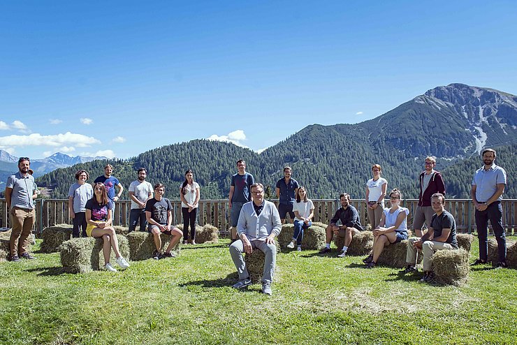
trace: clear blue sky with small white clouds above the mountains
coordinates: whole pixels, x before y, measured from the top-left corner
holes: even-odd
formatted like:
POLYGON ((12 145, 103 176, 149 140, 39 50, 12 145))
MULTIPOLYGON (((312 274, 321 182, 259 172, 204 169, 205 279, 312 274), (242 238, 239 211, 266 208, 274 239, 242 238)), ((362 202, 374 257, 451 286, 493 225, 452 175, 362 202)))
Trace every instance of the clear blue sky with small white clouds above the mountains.
POLYGON ((0 149, 260 150, 451 82, 517 94, 516 1, 1 1, 0 149))

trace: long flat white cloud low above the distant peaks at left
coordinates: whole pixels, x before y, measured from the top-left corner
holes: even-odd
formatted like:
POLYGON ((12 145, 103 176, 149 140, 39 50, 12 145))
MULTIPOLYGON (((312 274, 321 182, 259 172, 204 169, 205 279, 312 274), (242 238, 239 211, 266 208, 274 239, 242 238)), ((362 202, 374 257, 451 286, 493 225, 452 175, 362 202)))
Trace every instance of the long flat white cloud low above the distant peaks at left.
POLYGON ((76 147, 89 147, 94 144, 100 144, 101 141, 94 137, 86 135, 66 132, 64 134, 41 135, 32 133, 29 135, 6 135, 0 137, 0 148, 18 147, 18 146, 50 146, 61 147, 73 145, 76 147))

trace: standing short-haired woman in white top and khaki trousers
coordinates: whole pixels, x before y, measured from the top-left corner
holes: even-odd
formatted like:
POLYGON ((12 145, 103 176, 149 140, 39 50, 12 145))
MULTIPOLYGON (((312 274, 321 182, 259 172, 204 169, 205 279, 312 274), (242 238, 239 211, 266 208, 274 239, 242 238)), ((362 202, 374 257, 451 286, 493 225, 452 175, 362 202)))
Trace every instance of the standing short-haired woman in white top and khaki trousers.
POLYGON ((366 182, 366 205, 368 212, 368 221, 370 221, 371 229, 377 228, 381 221, 382 210, 384 209, 384 197, 388 188, 388 181, 381 177, 381 166, 374 164, 372 166, 373 178, 366 182))

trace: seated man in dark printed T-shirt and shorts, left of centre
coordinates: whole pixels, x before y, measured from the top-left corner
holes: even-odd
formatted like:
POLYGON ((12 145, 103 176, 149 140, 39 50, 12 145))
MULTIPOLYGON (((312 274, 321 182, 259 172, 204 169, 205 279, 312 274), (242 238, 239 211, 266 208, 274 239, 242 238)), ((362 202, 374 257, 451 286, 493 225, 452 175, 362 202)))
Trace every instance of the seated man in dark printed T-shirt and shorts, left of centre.
POLYGON ((147 231, 152 233, 154 246, 156 247, 156 250, 154 250, 154 253, 152 254, 152 258, 154 258, 154 260, 173 258, 174 254, 171 253, 170 250, 174 248, 177 242, 180 242, 180 239, 183 236, 182 230, 171 226, 173 223, 173 205, 170 204, 170 200, 168 200, 168 198, 163 198, 164 193, 165 187, 163 184, 155 184, 154 198, 147 200, 147 203, 145 204, 145 218, 147 218, 147 223, 149 223, 147 231), (163 254, 161 254, 161 233, 171 235, 173 237, 170 239, 170 243, 163 254))

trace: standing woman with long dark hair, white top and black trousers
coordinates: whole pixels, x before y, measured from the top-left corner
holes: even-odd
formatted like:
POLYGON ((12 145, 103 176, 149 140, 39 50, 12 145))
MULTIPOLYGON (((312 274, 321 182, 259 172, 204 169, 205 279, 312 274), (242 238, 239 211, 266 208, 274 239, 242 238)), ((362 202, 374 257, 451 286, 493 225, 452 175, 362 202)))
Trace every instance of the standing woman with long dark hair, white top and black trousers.
POLYGON ((182 200, 183 215, 183 244, 187 244, 189 238, 190 223, 190 242, 196 244, 196 215, 199 203, 199 184, 194 182, 192 170, 185 172, 185 180, 180 187, 180 198, 182 200))

